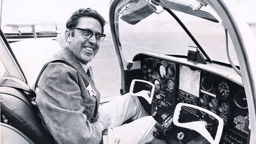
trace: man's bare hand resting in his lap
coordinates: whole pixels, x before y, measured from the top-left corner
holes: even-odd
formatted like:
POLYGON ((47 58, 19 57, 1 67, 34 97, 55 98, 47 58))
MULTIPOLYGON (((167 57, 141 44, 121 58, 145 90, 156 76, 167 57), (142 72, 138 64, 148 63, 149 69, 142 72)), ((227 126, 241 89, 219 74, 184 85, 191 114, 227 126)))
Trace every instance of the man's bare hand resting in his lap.
POLYGON ((101 123, 103 125, 104 129, 107 129, 107 127, 111 124, 111 119, 110 119, 109 114, 105 110, 102 110, 101 107, 99 107, 99 109, 98 109, 97 122, 101 123))

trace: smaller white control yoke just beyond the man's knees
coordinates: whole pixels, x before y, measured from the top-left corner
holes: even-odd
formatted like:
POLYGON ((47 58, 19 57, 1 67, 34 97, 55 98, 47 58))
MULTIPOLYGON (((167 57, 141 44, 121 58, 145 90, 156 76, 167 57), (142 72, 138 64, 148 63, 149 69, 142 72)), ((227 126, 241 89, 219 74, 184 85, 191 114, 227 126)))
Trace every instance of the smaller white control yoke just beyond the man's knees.
POLYGON ((146 99, 149 102, 149 104, 152 103, 154 92, 155 92, 155 85, 152 84, 151 82, 147 82, 145 80, 136 80, 136 79, 131 81, 130 94, 133 96, 143 97, 144 99, 146 99), (142 90, 140 92, 133 93, 133 88, 134 88, 135 82, 144 82, 144 83, 150 84, 152 86, 150 96, 148 95, 149 91, 147 91, 147 90, 142 90))

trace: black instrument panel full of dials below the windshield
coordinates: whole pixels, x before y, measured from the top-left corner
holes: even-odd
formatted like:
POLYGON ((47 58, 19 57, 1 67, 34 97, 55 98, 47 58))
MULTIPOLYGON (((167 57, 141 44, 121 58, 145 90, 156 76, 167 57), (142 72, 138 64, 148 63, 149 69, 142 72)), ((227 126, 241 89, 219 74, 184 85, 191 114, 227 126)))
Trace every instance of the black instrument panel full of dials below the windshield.
MULTIPOLYGON (((223 119, 221 144, 247 142, 249 115, 243 86, 213 72, 161 58, 144 58, 141 67, 143 79, 155 84, 151 113, 166 118, 177 103, 197 105, 223 119)), ((185 119, 206 121, 208 131, 215 136, 214 117, 189 108, 183 111, 185 119)))

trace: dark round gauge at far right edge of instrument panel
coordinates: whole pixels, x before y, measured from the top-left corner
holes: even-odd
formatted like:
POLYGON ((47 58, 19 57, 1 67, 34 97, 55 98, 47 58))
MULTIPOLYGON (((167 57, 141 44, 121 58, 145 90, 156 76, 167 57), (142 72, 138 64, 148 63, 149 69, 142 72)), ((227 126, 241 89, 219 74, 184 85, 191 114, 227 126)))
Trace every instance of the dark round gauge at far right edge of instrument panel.
POLYGON ((248 105, 247 105, 247 98, 245 95, 245 91, 239 90, 238 92, 236 92, 234 97, 234 102, 238 107, 242 109, 247 109, 248 105))

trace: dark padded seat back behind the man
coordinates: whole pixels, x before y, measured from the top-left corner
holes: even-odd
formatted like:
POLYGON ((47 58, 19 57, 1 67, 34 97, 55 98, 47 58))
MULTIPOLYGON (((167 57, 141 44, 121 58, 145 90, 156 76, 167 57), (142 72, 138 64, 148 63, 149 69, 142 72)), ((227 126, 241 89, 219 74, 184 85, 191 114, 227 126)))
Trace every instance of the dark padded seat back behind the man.
MULTIPOLYGON (((37 116, 31 104, 31 89, 23 81, 15 77, 4 77, 0 81, 0 107, 8 124, 24 133, 36 144, 55 143, 53 137, 42 126, 42 120, 37 116), (8 83, 7 85, 5 85, 8 83), (18 88, 10 84, 20 85, 18 88)), ((2 119, 2 118, 1 118, 2 119)))

